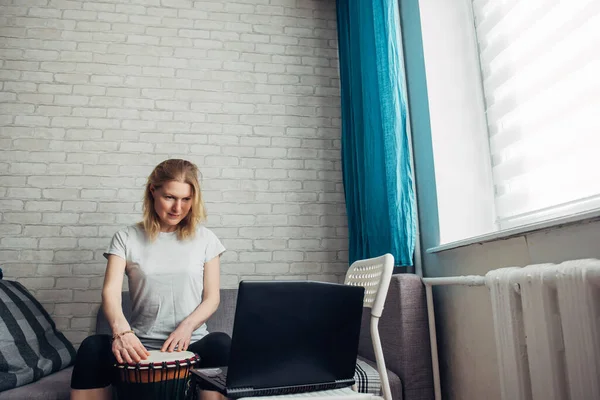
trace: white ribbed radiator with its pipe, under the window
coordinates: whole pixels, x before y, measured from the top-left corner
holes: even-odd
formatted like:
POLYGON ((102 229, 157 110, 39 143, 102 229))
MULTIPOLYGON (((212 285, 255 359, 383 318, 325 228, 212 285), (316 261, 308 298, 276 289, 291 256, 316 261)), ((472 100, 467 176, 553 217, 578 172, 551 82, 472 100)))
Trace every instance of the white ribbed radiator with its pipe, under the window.
MULTIPOLYGON (((599 260, 423 281, 431 311, 433 285, 488 287, 503 400, 600 399, 599 260)), ((434 345, 433 351, 437 363, 434 345)), ((439 381, 436 386, 440 398, 439 381)))

